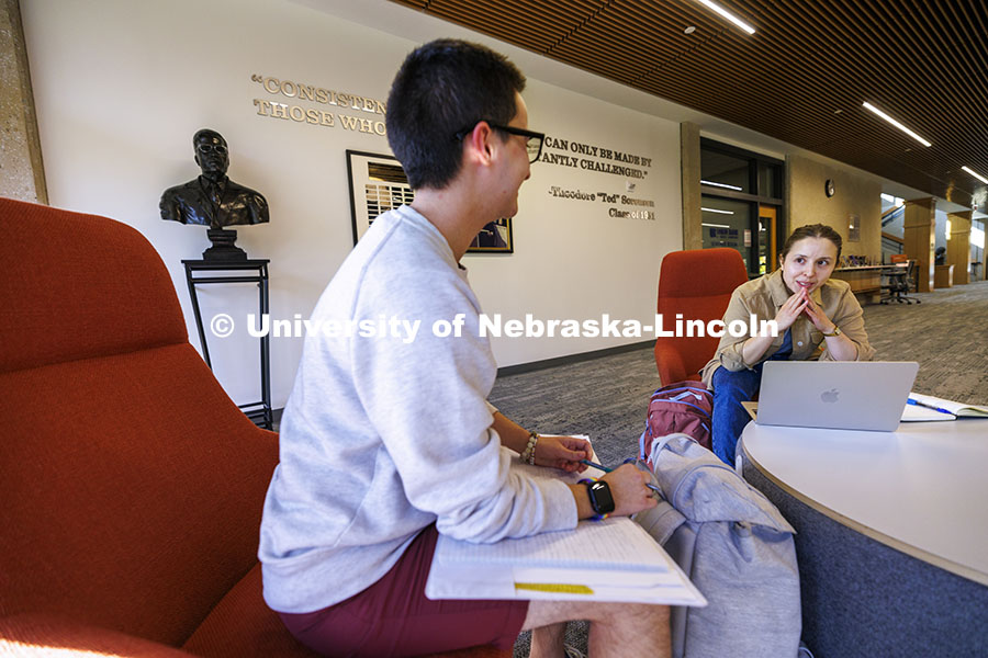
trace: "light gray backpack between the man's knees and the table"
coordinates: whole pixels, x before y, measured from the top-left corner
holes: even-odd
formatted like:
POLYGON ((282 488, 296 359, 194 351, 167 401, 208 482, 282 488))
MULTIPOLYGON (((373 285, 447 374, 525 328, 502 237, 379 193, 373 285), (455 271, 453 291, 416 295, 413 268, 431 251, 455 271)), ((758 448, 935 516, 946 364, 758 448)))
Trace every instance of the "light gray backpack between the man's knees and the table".
POLYGON ((691 436, 653 440, 665 500, 633 517, 706 608, 673 606, 673 658, 796 658, 801 613, 795 530, 764 495, 691 436))

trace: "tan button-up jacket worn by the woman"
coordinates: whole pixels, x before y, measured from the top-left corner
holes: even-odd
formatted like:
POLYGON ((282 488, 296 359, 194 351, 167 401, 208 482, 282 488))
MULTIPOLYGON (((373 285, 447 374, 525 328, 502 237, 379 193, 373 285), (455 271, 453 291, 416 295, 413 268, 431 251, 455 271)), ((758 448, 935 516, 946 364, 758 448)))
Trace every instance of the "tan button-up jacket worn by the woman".
MULTIPOLYGON (((782 270, 776 270, 772 274, 760 276, 759 279, 742 283, 731 295, 728 309, 723 314, 723 321, 729 325, 731 320, 743 320, 749 324, 752 315, 757 320, 772 320, 778 313, 778 309, 786 303, 793 293, 786 287, 782 277, 782 270)), ((857 347, 857 361, 871 361, 875 356, 875 350, 868 344, 868 334, 864 329, 864 317, 861 310, 861 304, 851 292, 851 286, 845 281, 828 279, 823 285, 810 293, 810 297, 827 314, 841 331, 851 339, 857 347)), ((793 331, 793 355, 790 361, 809 361, 819 359, 820 361, 834 361, 827 345, 823 343, 823 333, 821 333, 813 324, 810 322, 806 315, 800 315, 790 328, 793 331)), ((714 379, 714 371, 720 366, 729 371, 738 372, 743 368, 751 370, 756 363, 744 363, 741 358, 741 347, 748 340, 748 336, 734 337, 725 332, 717 345, 717 352, 714 359, 704 366, 701 375, 704 383, 711 386, 714 379)), ((782 347, 785 332, 779 331, 778 336, 772 341, 772 345, 762 356, 761 361, 765 361, 775 354, 782 347)))

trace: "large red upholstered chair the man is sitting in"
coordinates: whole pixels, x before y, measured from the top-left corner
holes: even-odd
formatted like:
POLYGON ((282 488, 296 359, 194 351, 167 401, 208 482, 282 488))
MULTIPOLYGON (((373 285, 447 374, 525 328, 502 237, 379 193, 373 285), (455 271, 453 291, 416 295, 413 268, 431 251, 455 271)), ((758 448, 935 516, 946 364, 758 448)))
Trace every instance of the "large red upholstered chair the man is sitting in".
POLYGON ((150 243, 0 198, 0 655, 313 656, 261 599, 277 435, 189 344, 150 243))

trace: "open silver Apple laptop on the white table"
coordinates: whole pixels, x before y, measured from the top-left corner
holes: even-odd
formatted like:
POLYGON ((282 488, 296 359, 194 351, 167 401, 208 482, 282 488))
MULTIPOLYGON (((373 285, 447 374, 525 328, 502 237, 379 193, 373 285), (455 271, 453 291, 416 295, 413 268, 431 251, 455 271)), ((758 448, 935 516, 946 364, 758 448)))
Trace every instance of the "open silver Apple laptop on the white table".
POLYGON ((891 432, 917 372, 914 361, 766 361, 755 422, 891 432))

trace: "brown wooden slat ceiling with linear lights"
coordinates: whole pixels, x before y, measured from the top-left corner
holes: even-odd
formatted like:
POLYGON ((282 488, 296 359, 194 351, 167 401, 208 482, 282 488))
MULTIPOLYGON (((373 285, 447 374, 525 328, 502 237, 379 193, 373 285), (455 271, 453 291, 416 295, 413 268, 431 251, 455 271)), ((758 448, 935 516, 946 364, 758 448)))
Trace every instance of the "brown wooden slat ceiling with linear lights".
POLYGON ((984 1, 393 1, 988 213, 984 1))

